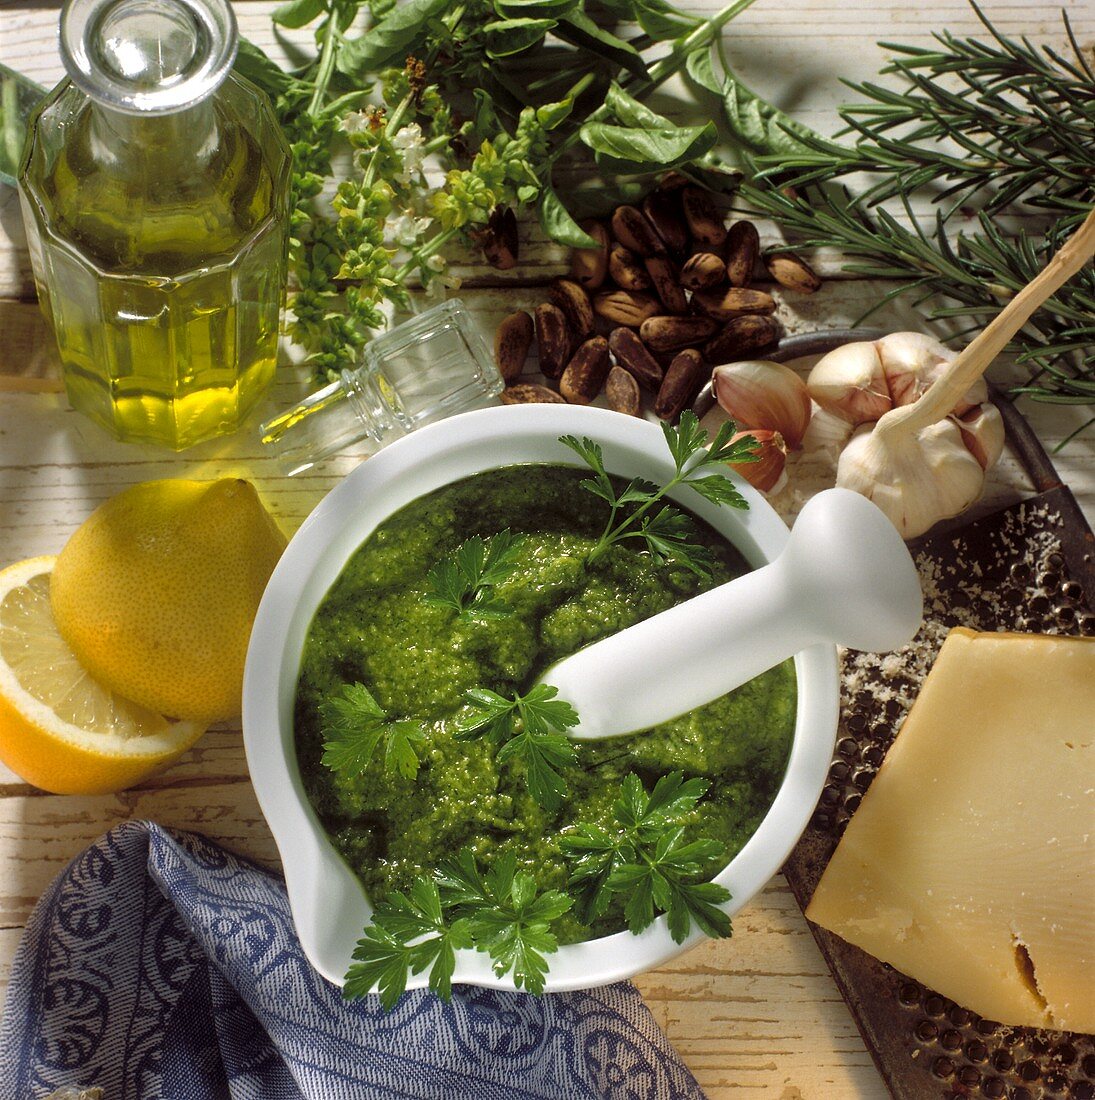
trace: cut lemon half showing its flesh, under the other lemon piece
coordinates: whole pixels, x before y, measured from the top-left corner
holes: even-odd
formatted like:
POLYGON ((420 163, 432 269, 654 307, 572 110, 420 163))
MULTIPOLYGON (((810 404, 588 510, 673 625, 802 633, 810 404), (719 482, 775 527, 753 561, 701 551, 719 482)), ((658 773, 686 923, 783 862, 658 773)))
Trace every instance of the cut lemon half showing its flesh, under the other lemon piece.
POLYGON ((55 558, 0 571, 0 759, 55 794, 131 787, 205 732, 122 698, 76 660, 53 619, 55 558))

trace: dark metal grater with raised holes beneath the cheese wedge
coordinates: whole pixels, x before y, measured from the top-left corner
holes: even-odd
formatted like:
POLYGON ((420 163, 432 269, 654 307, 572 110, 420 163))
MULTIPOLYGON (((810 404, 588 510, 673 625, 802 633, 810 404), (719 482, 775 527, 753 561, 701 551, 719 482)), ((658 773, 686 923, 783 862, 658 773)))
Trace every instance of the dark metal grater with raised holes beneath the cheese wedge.
MULTIPOLYGON (((1056 488, 913 547, 926 595, 917 639, 898 654, 843 656, 829 782, 785 867, 803 908, 951 627, 1095 635, 1095 543, 1077 516, 1056 488)), ((1095 1100, 1095 1036, 983 1020, 812 931, 899 1100, 1095 1100)))

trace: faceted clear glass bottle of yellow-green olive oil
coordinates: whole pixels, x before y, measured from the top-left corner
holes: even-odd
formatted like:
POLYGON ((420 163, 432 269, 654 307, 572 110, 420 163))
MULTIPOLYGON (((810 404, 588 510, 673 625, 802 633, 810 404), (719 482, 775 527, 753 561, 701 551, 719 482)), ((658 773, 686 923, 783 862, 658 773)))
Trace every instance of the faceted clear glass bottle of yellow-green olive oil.
POLYGON ((229 73, 227 0, 72 0, 68 79, 40 107, 21 194, 73 406, 182 449, 234 430, 274 373, 289 153, 229 73))

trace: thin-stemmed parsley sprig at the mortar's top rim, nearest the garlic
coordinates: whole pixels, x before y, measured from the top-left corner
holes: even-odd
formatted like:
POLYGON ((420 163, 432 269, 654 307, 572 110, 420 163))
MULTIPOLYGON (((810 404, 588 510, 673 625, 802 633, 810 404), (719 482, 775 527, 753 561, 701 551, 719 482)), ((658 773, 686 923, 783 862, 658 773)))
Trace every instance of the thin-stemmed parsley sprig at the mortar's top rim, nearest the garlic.
POLYGON ((594 476, 583 481, 582 488, 606 501, 612 509, 604 531, 585 560, 593 564, 616 542, 639 539, 657 564, 672 563, 700 576, 710 576, 711 556, 704 547, 690 541, 692 525, 688 517, 668 504, 656 512, 655 506, 678 485, 688 485, 713 504, 747 508, 745 498, 724 474, 697 474, 727 462, 755 462, 757 442, 752 436, 735 440, 737 425, 727 420, 720 426, 709 447, 708 432, 691 410, 681 414, 678 427, 663 424, 661 430, 674 459, 674 476, 660 488, 642 477, 634 477, 618 493, 605 472, 599 443, 588 437, 581 440, 574 436, 559 438, 560 443, 569 447, 593 471, 594 476), (628 505, 634 507, 628 509, 628 505))

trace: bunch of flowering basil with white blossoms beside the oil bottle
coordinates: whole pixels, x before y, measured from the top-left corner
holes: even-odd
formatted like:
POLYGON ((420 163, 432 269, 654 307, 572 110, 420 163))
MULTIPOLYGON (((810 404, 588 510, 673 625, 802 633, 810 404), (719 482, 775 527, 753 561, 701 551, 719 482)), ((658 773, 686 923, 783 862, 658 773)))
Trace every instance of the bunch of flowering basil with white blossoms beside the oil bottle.
POLYGON ((455 286, 446 245, 490 254, 515 211, 535 208, 556 241, 592 244, 556 193, 561 158, 613 177, 678 166, 732 179, 711 155, 713 124, 676 128, 640 101, 751 3, 710 19, 667 0, 612 0, 596 18, 585 0, 276 8, 281 28, 315 24, 315 57, 284 72, 244 42, 237 68, 270 94, 293 151, 288 331, 317 373, 351 365, 409 283, 455 286))

